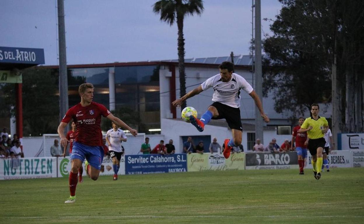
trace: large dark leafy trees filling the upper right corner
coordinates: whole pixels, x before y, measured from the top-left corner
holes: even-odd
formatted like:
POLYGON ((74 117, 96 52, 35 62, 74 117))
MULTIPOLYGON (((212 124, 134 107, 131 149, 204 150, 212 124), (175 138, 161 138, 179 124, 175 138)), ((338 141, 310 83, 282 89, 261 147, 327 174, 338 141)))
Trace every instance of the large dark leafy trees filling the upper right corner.
POLYGON ((283 7, 271 25, 274 34, 264 41, 270 58, 265 60, 264 93, 274 94, 277 112, 296 114, 313 102, 338 99, 340 129, 360 131, 353 123, 362 124, 363 119, 353 114, 361 114, 363 104, 362 92, 355 96, 354 90, 363 87, 364 2, 280 2, 283 7), (332 76, 337 81, 334 91, 332 76))

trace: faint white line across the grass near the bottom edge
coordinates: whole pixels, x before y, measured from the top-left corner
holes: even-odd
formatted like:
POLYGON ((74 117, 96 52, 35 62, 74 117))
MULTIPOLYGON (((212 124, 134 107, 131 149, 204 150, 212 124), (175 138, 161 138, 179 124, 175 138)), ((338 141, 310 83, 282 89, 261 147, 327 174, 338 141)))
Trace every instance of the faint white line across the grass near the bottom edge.
POLYGON ((0 219, 114 219, 114 218, 363 218, 364 216, 346 216, 346 215, 332 215, 332 216, 285 216, 285 215, 262 215, 262 216, 209 216, 209 215, 195 215, 195 216, 155 216, 155 215, 121 215, 121 216, 23 216, 23 217, 0 217, 0 219))

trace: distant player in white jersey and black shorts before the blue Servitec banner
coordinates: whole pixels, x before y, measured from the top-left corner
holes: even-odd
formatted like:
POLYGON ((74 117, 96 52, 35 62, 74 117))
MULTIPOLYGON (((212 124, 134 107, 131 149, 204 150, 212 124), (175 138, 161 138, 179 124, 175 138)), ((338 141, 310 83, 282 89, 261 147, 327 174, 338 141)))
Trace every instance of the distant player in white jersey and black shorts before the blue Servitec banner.
POLYGON ((110 156, 112 158, 112 168, 114 169, 114 180, 118 179, 118 171, 120 168, 120 160, 122 156, 121 142, 126 142, 126 134, 119 129, 115 123, 112 123, 112 129, 106 133, 106 141, 109 146, 110 156))

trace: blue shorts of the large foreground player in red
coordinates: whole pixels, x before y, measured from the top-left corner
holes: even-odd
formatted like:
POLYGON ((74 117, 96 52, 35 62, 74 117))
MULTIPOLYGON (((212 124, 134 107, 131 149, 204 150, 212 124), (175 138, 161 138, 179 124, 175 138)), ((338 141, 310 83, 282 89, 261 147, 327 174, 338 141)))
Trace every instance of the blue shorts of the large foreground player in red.
POLYGON ((72 159, 79 159, 83 162, 84 159, 90 165, 98 170, 101 170, 101 163, 104 158, 104 150, 101 146, 88 146, 74 141, 72 146, 72 159))

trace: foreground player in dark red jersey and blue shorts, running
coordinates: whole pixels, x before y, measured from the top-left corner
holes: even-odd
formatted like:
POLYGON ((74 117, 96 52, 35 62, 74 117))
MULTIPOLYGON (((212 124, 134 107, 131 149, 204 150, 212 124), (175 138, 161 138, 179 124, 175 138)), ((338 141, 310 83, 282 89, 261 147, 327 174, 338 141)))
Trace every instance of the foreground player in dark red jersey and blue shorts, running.
POLYGON ((71 172, 69 177, 71 195, 65 203, 74 203, 76 201, 77 174, 85 158, 88 161, 88 163, 85 163, 85 169, 90 178, 97 180, 99 177, 101 163, 104 157, 100 126, 101 116, 129 130, 134 136, 138 134, 137 130, 132 129, 122 120, 112 115, 105 106, 92 102, 94 98, 94 86, 91 83, 80 85, 78 92, 81 97, 81 102, 67 111, 58 126, 58 134, 62 146, 66 146, 67 142, 69 142, 64 135, 64 129, 71 119, 76 123, 77 128, 72 145, 71 172))

